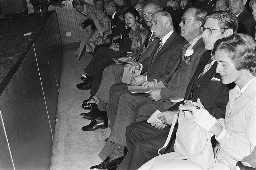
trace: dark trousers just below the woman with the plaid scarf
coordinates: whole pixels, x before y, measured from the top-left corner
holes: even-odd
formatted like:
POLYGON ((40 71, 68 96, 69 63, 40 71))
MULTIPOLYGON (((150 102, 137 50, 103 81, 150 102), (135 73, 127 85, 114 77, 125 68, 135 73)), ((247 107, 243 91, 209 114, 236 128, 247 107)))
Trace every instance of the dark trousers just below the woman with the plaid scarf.
POLYGON ((90 91, 91 95, 95 95, 100 87, 100 82, 102 79, 102 74, 104 69, 110 65, 115 63, 113 58, 121 58, 125 57, 126 53, 121 53, 119 51, 114 51, 109 49, 108 47, 101 47, 97 50, 97 52, 93 55, 90 63, 84 69, 84 72, 92 76, 93 84, 92 89, 90 91))

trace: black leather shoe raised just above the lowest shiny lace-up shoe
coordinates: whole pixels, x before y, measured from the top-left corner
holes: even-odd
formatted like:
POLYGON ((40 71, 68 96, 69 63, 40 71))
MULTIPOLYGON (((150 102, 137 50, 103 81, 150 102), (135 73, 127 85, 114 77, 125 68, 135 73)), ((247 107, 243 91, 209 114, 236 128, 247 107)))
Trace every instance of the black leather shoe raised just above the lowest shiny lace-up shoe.
POLYGON ((108 120, 108 114, 106 111, 100 111, 98 107, 95 107, 94 109, 90 110, 89 113, 81 113, 81 116, 85 119, 99 119, 99 120, 108 120))

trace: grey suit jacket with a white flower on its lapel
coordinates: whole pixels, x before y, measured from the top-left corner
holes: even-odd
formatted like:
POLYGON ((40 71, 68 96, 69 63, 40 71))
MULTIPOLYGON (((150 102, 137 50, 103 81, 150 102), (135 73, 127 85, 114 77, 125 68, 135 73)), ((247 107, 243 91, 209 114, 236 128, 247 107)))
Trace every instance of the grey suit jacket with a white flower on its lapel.
MULTIPOLYGON (((187 43, 187 41, 185 42, 187 43)), ((193 46, 194 53, 190 56, 190 65, 183 60, 180 63, 180 56, 176 59, 173 70, 161 89, 161 101, 170 101, 171 97, 184 97, 189 81, 191 80, 202 54, 206 51, 203 38, 200 38, 193 46), (179 64, 180 63, 180 64, 179 64)), ((181 51, 181 49, 180 49, 181 51)), ((157 81, 158 82, 158 81, 157 81)))

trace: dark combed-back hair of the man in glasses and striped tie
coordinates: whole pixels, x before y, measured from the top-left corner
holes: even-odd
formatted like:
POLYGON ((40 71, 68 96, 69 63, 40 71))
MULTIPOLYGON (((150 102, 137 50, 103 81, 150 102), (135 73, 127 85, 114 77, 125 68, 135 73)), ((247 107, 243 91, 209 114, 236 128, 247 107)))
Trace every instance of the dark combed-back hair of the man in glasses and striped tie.
POLYGON ((225 11, 215 11, 207 14, 204 18, 205 21, 208 18, 218 20, 218 26, 223 29, 221 30, 222 34, 230 28, 233 30, 233 34, 237 33, 238 20, 234 14, 225 11))

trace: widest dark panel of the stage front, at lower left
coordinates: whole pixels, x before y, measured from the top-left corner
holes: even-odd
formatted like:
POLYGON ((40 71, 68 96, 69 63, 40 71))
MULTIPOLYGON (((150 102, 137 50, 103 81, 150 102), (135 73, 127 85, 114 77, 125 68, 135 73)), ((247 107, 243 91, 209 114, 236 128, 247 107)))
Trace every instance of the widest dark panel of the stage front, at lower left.
POLYGON ((22 65, 0 96, 15 169, 45 169, 22 65))

